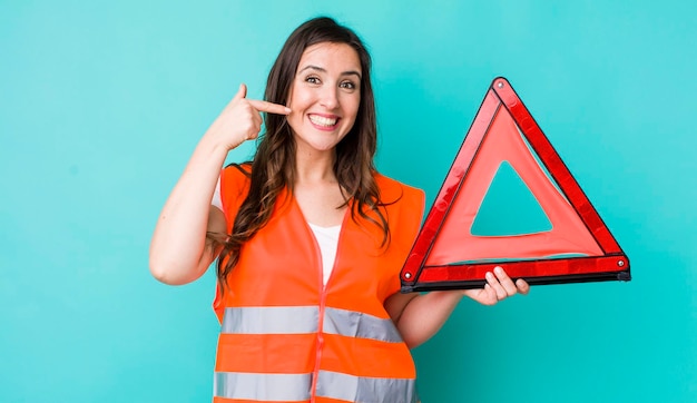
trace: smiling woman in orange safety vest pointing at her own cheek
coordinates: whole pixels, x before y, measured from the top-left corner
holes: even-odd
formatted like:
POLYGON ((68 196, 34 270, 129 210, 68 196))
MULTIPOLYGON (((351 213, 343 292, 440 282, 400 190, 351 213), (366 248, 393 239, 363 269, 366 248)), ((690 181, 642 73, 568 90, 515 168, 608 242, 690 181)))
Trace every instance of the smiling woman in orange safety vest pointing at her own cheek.
POLYGON ((163 208, 157 279, 193 282, 218 258, 214 402, 415 402, 410 348, 462 296, 494 304, 529 289, 499 268, 482 289, 399 293, 424 196, 374 167, 370 72, 352 30, 303 23, 265 100, 239 87, 163 208), (222 169, 262 124, 254 160, 222 169))

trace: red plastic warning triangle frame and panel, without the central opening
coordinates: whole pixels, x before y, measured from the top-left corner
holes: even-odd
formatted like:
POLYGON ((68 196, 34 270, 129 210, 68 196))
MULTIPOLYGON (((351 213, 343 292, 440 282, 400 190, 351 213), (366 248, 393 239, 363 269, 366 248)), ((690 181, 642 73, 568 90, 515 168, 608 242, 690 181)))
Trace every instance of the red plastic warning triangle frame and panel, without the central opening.
MULTIPOLYGON (((491 147, 488 149, 488 155, 505 153, 497 148, 494 151, 491 149, 491 147)), ((453 218, 453 220, 457 219, 453 218)), ((628 257, 511 85, 502 77, 495 78, 491 83, 414 240, 411 253, 400 273, 402 292, 480 288, 485 284, 485 273, 493 271, 495 266, 503 267, 511 278, 523 278, 530 285, 631 279, 628 257), (500 116, 503 118, 499 119, 500 116), (520 135, 518 137, 527 142, 519 140, 521 145, 526 144, 519 149, 524 149, 524 154, 528 156, 522 159, 519 158, 522 163, 513 160, 511 164, 529 164, 529 161, 534 160, 532 159, 534 158, 532 151, 534 151, 537 160, 547 170, 542 174, 543 171, 538 166, 539 174, 527 175, 528 179, 536 176, 532 178, 534 180, 530 181, 536 181, 537 185, 529 183, 526 177, 523 180, 531 188, 552 222, 551 235, 526 234, 521 236, 478 237, 469 234, 469 230, 462 229, 462 225, 467 224, 462 219, 454 224, 452 222, 448 224, 449 214, 452 213, 452 216, 459 214, 453 208, 457 206, 457 208, 462 209, 469 208, 471 218, 469 225, 471 226, 473 220, 471 215, 477 214, 477 209, 484 197, 485 187, 481 190, 482 187, 479 186, 480 189, 475 190, 475 195, 468 194, 464 197, 464 194, 471 190, 471 187, 468 188, 464 184, 470 175, 472 178, 479 177, 479 179, 470 178, 471 181, 480 180, 481 183, 481 175, 475 171, 478 164, 479 166, 482 164, 491 166, 507 160, 507 157, 503 156, 499 157, 499 160, 494 158, 493 163, 474 164, 478 155, 484 153, 482 145, 487 136, 494 136, 493 132, 497 129, 493 126, 502 125, 498 121, 505 119, 510 120, 509 126, 514 125, 516 131, 520 135), (527 159, 528 163, 523 159, 527 159), (473 171, 474 174, 472 174, 473 171), (553 180, 553 185, 550 178, 553 180), (461 191, 463 189, 465 190, 461 191), (551 207, 546 209, 546 205, 551 207), (551 215, 550 210, 552 210, 551 215), (556 217, 553 210, 566 210, 567 213, 558 214, 556 217), (458 250, 452 253, 435 250, 439 249, 439 237, 443 236, 457 237, 457 240, 442 242, 442 244, 450 245, 440 246, 440 249, 454 248, 458 250), (570 243, 569 239, 571 239, 570 243), (544 249, 549 245, 543 244, 551 246, 544 249), (537 245, 542 246, 540 250, 537 250, 537 245), (472 250, 465 254, 472 254, 474 257, 468 256, 453 261, 452 256, 462 254, 460 249, 472 250), (547 250, 548 254, 544 254, 543 250, 547 250), (549 250, 553 253, 550 254, 549 250), (565 250, 567 252, 565 253, 565 250), (582 253, 578 253, 578 250, 582 250, 582 253), (497 256, 495 252, 499 252, 499 255, 519 253, 524 257, 497 256), (487 256, 488 253, 491 254, 491 257, 487 256), (448 259, 448 256, 451 258, 448 259)))

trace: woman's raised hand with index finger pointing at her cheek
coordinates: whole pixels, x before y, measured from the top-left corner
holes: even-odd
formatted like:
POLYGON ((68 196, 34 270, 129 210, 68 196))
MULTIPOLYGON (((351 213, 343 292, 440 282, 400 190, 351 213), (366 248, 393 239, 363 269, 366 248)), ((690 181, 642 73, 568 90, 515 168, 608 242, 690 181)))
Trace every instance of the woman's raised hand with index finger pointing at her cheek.
POLYGON ((288 115, 291 108, 257 99, 247 99, 243 83, 233 100, 223 109, 206 132, 217 145, 232 150, 246 140, 257 138, 262 130, 262 112, 288 115))

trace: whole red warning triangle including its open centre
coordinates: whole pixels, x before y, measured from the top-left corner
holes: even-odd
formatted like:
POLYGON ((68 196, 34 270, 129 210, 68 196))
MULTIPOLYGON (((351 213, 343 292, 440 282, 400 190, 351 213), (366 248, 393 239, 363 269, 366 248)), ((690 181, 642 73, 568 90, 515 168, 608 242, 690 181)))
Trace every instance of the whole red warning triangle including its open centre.
POLYGON ((483 287, 495 266, 531 285, 631 278, 619 244, 501 77, 491 83, 414 240, 401 272, 402 292, 483 287), (500 177, 518 185, 495 185, 500 177), (522 188, 529 196, 524 206, 483 203, 507 188, 522 188), (498 223, 498 232, 480 215, 498 223), (511 225, 529 216, 543 223, 511 225))

